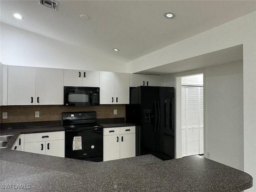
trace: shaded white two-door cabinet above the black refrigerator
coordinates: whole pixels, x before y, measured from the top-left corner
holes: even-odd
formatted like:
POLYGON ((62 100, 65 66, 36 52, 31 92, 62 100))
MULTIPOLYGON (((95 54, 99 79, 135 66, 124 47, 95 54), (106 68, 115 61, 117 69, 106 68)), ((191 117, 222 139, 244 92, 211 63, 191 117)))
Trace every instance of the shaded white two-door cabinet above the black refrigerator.
POLYGON ((160 85, 160 75, 130 74, 130 87, 160 85))

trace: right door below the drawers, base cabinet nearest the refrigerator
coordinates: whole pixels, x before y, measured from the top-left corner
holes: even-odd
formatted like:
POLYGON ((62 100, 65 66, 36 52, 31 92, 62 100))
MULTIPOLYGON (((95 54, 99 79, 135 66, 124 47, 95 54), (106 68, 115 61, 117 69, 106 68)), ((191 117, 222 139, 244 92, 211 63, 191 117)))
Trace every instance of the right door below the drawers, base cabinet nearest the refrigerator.
POLYGON ((135 157, 135 133, 120 135, 120 159, 135 157))

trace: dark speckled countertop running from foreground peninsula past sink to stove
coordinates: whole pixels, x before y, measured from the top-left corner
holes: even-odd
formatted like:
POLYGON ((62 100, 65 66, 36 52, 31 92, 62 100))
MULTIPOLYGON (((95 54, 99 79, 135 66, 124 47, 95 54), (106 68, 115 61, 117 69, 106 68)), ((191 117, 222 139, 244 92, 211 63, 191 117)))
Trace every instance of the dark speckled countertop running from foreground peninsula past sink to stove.
MULTIPOLYGON (((1 134, 62 131, 62 126, 1 130, 1 134)), ((107 162, 0 149, 1 191, 30 192, 239 192, 252 177, 202 156, 162 161, 152 155, 107 162), (10 185, 13 186, 10 186, 10 185), (7 188, 9 185, 9 189, 7 188)))

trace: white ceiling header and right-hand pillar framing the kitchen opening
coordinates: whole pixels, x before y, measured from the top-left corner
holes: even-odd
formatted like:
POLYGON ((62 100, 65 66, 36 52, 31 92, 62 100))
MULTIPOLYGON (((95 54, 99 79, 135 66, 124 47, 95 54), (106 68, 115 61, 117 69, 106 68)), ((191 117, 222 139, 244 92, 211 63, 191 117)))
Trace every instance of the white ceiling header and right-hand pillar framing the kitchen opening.
MULTIPOLYGON (((256 180, 256 12, 138 58, 128 63, 128 72, 139 72, 241 44, 243 45, 244 171, 256 180)), ((247 191, 255 192, 256 185, 254 184, 247 191)))

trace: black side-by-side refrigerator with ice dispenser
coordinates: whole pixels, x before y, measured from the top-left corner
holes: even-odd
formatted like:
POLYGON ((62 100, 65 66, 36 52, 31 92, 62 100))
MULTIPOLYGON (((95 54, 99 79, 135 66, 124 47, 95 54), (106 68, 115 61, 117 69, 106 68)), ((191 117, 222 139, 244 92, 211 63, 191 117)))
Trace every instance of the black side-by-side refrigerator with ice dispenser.
POLYGON ((152 154, 162 160, 174 158, 174 88, 130 88, 126 122, 136 124, 136 156, 152 154))

